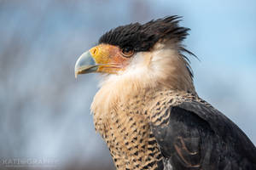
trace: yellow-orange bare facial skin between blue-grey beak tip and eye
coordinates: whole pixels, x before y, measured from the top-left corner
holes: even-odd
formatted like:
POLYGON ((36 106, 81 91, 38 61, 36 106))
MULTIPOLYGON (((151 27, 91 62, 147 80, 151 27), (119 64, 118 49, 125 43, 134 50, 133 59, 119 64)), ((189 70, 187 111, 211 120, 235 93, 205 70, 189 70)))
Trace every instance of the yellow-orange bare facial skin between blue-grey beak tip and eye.
POLYGON ((90 48, 90 54, 95 59, 98 66, 97 72, 117 74, 118 71, 124 71, 130 63, 131 58, 126 58, 118 46, 109 44, 100 44, 90 48))

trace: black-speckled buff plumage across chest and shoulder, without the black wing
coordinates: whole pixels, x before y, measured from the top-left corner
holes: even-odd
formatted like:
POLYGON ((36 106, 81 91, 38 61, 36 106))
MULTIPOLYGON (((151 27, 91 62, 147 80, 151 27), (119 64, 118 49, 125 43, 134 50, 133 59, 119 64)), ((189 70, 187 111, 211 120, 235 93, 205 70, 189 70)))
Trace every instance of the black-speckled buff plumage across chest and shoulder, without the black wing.
POLYGON ((167 123, 166 108, 191 100, 207 105, 193 94, 172 90, 145 92, 131 96, 125 103, 119 101, 118 109, 110 111, 107 119, 97 118, 96 130, 107 142, 117 169, 163 169, 163 156, 150 123, 167 123))

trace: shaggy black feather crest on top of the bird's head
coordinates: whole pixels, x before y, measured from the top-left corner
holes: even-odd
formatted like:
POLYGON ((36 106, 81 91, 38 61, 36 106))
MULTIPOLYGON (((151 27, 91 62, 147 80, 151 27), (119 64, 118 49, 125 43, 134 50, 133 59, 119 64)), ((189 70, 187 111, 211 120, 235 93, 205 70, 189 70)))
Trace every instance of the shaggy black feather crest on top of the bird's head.
POLYGON ((178 26, 180 17, 174 15, 159 20, 151 20, 146 24, 134 23, 119 26, 105 33, 99 43, 117 45, 120 48, 131 47, 135 51, 148 51, 160 39, 173 39, 181 42, 189 28, 178 26))

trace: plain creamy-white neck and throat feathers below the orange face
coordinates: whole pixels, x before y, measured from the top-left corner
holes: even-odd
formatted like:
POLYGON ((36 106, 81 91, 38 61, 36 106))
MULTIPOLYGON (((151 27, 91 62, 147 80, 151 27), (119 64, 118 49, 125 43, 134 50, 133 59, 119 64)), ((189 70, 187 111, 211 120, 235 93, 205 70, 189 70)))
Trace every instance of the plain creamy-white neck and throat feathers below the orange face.
POLYGON ((148 90, 172 89, 196 94, 186 60, 176 48, 161 43, 150 52, 137 53, 125 71, 104 77, 100 86, 91 110, 101 114, 113 109, 119 101, 148 90))

